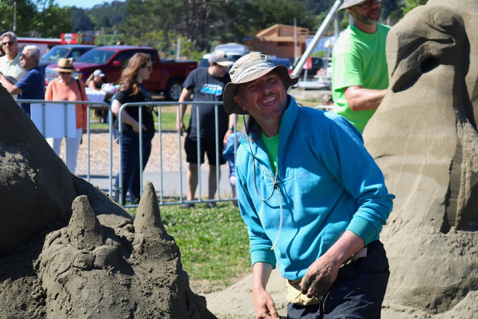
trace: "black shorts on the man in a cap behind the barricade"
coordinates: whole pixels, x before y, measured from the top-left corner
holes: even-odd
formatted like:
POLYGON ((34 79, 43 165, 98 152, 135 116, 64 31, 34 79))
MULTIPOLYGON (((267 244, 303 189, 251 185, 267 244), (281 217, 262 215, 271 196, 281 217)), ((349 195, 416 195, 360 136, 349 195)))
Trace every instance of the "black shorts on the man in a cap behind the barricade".
MULTIPOLYGON (((200 153, 199 159, 201 164, 204 163, 204 153, 208 156, 209 165, 216 166, 216 140, 213 139, 201 139, 200 140, 200 153)), ((220 139, 219 142, 219 164, 225 164, 226 159, 223 158, 223 149, 224 144, 223 140, 220 139)), ((196 137, 192 138, 190 135, 186 136, 184 140, 184 150, 186 151, 186 161, 188 163, 197 164, 198 163, 198 145, 196 137)))

